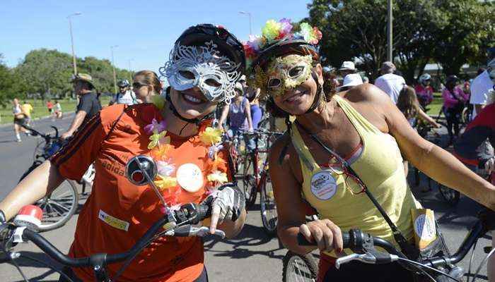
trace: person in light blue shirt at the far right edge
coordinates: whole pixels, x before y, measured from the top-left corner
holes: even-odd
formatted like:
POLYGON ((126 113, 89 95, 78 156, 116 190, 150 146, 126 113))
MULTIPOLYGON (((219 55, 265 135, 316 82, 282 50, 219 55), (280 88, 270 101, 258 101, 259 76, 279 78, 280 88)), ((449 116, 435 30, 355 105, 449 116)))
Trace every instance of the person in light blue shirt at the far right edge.
POLYGON ((473 105, 472 118, 474 118, 484 106, 487 105, 489 92, 494 90, 495 59, 488 63, 488 68, 479 74, 471 84, 470 104, 473 105))

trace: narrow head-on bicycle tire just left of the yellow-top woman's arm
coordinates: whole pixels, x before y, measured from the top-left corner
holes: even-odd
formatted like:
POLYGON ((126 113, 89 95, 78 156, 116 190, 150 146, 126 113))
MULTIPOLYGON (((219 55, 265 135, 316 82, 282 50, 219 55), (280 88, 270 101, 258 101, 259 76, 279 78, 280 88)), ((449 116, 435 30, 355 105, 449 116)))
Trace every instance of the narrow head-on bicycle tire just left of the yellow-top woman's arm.
POLYGON ((272 181, 268 171, 265 171, 260 181, 260 212, 264 231, 268 235, 276 234, 276 224, 278 217, 276 214, 276 203, 272 188, 272 181), (272 216, 268 216, 272 214, 272 216))

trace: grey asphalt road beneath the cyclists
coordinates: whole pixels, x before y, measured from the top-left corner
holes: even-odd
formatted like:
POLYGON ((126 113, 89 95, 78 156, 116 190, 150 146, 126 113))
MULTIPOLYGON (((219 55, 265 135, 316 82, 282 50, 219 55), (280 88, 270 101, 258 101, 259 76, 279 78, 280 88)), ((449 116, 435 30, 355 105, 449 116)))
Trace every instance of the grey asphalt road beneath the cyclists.
MULTIPOLYGON (((35 121, 35 128, 48 132, 51 130, 50 125, 54 124, 66 129, 71 118, 72 116, 67 116, 63 120, 54 122, 50 119, 35 121)), ((0 162, 0 200, 16 185, 18 178, 33 162, 33 150, 38 140, 35 137, 23 136, 23 142, 17 143, 11 126, 0 127, 0 159, 2 160, 0 162)), ((445 235, 447 245, 451 251, 457 250, 467 234, 467 228, 474 223, 476 219, 474 216, 480 206, 466 197, 461 197, 457 207, 449 207, 441 200, 436 188, 433 188, 431 192, 421 192, 421 188, 425 185, 426 181, 422 180, 418 188, 413 188, 413 192, 425 207, 436 212, 436 218, 445 235)), ((86 200, 85 197, 81 199, 81 205, 84 200, 86 200)), ((60 250, 66 251, 74 238, 76 219, 77 215, 62 228, 42 234, 60 250)), ((256 206, 248 213, 248 221, 237 238, 206 241, 206 268, 210 281, 281 281, 281 259, 286 250, 279 244, 279 240, 267 236, 261 226, 259 206, 256 206)), ((482 239, 477 244, 473 269, 477 268, 484 257, 482 247, 489 244, 487 239, 482 239)), ((50 258, 32 243, 18 245, 16 250, 43 262, 50 262, 50 258)), ((465 271, 467 271, 469 255, 459 264, 465 271)), ((19 264, 30 281, 58 280, 58 274, 36 262, 20 260, 19 264)), ((486 280, 486 275, 487 271, 484 267, 479 281, 486 280)), ((0 277, 1 281, 23 281, 21 275, 11 264, 0 264, 0 277)))

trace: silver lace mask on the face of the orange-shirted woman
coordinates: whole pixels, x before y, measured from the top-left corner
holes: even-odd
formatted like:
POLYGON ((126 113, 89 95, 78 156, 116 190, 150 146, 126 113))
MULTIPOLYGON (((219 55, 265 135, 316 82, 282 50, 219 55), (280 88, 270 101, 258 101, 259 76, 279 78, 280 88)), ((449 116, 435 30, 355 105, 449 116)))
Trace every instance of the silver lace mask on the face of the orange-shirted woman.
POLYGON ((222 56, 213 41, 199 47, 177 43, 160 73, 175 90, 198 87, 209 101, 230 104, 241 75, 239 67, 240 63, 222 56))

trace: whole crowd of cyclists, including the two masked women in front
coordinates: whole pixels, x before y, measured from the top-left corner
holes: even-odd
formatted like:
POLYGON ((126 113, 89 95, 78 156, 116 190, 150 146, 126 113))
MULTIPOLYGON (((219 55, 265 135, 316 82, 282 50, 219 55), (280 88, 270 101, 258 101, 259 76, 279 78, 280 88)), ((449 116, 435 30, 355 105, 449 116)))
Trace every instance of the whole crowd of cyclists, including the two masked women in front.
MULTIPOLYGON (((461 162, 494 171, 493 153, 481 155, 479 146, 495 140, 495 105, 490 104, 495 59, 471 84, 460 87, 455 75, 445 80, 442 111, 454 157, 413 128, 419 120, 440 126, 426 114, 434 92, 430 75, 420 75, 412 87, 390 61, 373 83, 352 61, 338 70, 322 67, 318 42, 325 35, 306 23, 298 28, 288 19, 269 20, 262 35, 243 44, 221 26, 189 27, 175 41, 160 75, 139 71, 132 83, 121 80, 119 93, 105 107, 91 75, 75 75, 79 102, 62 134, 68 142, 1 200, 0 221, 13 219, 62 180, 81 179, 93 164, 93 189, 78 216, 69 256, 124 252, 156 219, 189 202, 210 204, 211 219, 204 225, 231 238, 245 222, 245 195, 233 178, 228 148, 220 146, 221 135, 244 138, 269 112, 286 124, 269 154, 281 243, 301 254, 320 250, 318 281, 417 281, 417 274, 397 262, 350 262, 337 269, 337 257, 350 252, 342 233, 360 228, 390 241, 407 257, 417 255, 412 210, 421 204, 407 184, 407 161, 495 209, 494 185, 461 162), (170 86, 163 87, 161 78, 170 86), (474 120, 458 137, 467 102, 474 104, 474 120), (129 160, 141 154, 157 164, 154 185, 127 179, 129 160), (155 185, 158 197, 151 189, 155 185), (319 218, 306 221, 308 208, 319 218), (314 245, 300 245, 298 235, 314 245)), ((25 121, 18 101, 13 103, 18 137, 25 121)), ((246 149, 254 147, 254 140, 244 142, 246 149)), ((107 267, 110 274, 117 272, 117 266, 107 267)), ((93 281, 87 268, 66 267, 64 274, 93 281)), ((67 281, 65 276, 59 281, 67 281)), ((202 240, 158 238, 120 277, 208 281, 202 240)))

